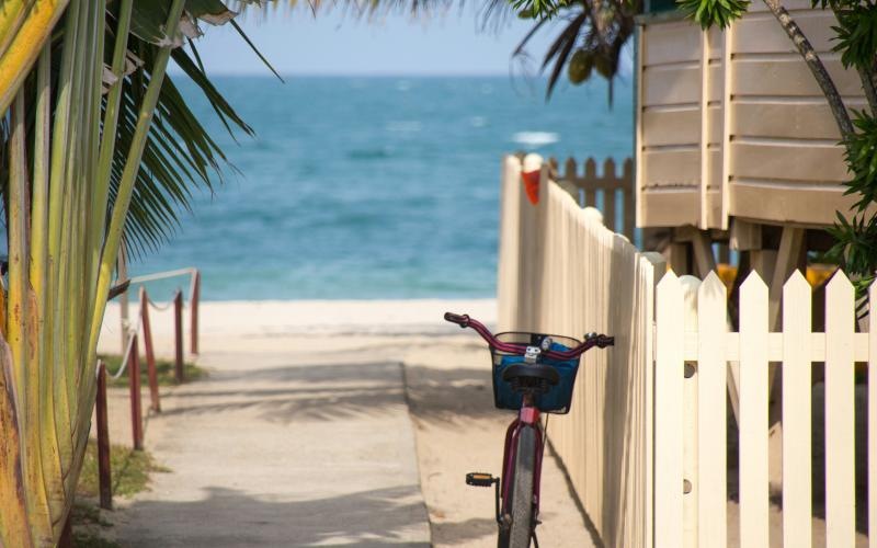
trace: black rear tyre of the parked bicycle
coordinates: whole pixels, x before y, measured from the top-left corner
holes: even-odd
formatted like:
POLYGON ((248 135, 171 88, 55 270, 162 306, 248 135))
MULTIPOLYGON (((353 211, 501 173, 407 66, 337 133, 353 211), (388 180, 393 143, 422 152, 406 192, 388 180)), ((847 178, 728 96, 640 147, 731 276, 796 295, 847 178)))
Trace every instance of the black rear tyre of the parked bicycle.
POLYGON ((528 548, 533 534, 533 470, 536 467, 536 433, 521 429, 515 452, 512 495, 509 501, 511 524, 500 530, 500 548, 528 548))

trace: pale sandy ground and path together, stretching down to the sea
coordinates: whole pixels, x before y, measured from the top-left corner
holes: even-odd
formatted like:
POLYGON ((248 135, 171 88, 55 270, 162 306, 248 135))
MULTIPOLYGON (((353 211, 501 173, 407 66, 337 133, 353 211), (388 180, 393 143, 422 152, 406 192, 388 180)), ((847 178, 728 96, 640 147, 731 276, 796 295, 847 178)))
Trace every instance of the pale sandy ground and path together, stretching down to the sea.
MULTIPOLYGON (((146 446, 171 472, 118 502, 114 535, 125 546, 496 546, 492 493, 463 478, 499 471, 512 415, 492 407, 485 345, 444 322, 447 310, 496 323, 492 299, 202 304, 209 376, 162 395, 146 446)), ((171 309, 150 312, 157 352, 172 355, 171 309)), ((102 352, 118 352, 119 329, 113 304, 102 352)), ((115 401, 124 419, 126 399, 115 401)), ((112 422, 127 439, 127 421, 112 422)), ((592 546, 554 458, 543 481, 540 543, 592 546)))

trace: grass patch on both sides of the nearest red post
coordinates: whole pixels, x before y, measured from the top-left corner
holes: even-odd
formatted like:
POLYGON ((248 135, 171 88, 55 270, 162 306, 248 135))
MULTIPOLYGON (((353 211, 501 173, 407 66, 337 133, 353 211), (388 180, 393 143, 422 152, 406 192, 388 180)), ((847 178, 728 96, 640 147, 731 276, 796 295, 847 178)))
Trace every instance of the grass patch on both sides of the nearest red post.
MULTIPOLYGON (((110 476, 113 495, 132 496, 146 490, 150 472, 167 472, 145 450, 133 450, 124 445, 110 446, 110 476)), ((82 472, 79 476, 78 498, 98 498, 98 442, 89 439, 82 472)))

